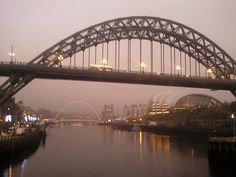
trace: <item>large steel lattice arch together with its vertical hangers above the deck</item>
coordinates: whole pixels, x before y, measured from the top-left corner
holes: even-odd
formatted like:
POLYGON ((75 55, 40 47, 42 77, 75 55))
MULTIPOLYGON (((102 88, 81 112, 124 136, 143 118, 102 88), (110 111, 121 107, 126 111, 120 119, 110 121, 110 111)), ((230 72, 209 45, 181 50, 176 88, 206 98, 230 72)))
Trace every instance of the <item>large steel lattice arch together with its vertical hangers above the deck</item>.
MULTIPOLYGON (((142 53, 142 42, 147 40, 150 41, 149 63, 151 74, 166 74, 168 70, 171 75, 183 75, 184 72, 184 75, 188 77, 194 76, 194 72, 195 76, 200 77, 200 72, 203 70, 203 67, 205 68, 205 74, 210 73, 214 75, 216 80, 235 81, 236 61, 215 42, 184 24, 159 17, 148 16, 117 18, 93 25, 63 39, 42 52, 26 65, 40 65, 41 68, 56 68, 58 65, 61 65, 61 63, 68 61, 70 67, 72 65, 76 67, 76 61, 78 61, 76 54, 82 53, 81 60, 79 61, 82 62, 81 68, 84 69, 85 53, 87 52, 87 64, 89 67, 92 63, 90 49, 93 48, 93 63, 97 64, 97 49, 99 46, 102 46, 102 58, 104 58, 104 45, 107 47, 106 62, 109 63, 111 61, 108 60, 108 49, 109 44, 113 43, 115 48, 114 61, 112 61, 114 65, 113 71, 119 71, 121 68, 120 43, 123 40, 128 42, 128 56, 126 60, 127 69, 125 69, 128 72, 131 72, 133 68, 131 40, 139 42, 139 58, 138 60, 136 58, 135 62, 139 63, 138 70, 140 73, 142 67, 144 67, 142 64, 145 60, 142 53), (154 57, 155 43, 158 43, 160 46, 158 64, 154 57), (167 49, 167 46, 169 49, 167 49), (166 54, 167 50, 169 50, 168 54, 166 54), (178 52, 178 65, 176 50, 178 52), (168 58, 168 62, 165 57, 168 58), (158 72, 155 71, 156 65, 159 65, 160 67, 158 72)), ((16 72, 12 69, 11 71, 4 71, 5 73, 2 71, 2 73, 0 73, 1 75, 9 76, 9 78, 0 86, 0 103, 5 102, 37 77, 35 71, 27 73, 22 70, 21 72, 16 72)), ((233 87, 225 89, 230 90, 236 96, 235 82, 231 85, 233 85, 233 87)), ((184 86, 184 83, 182 86, 184 86)))

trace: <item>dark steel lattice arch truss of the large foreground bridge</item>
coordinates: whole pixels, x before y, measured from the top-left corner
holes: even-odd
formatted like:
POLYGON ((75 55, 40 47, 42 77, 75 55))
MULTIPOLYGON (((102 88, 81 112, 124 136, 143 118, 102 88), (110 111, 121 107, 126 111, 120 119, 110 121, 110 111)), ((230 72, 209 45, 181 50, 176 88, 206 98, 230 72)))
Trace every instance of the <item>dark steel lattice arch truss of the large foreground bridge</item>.
MULTIPOLYGON (((230 80, 231 75, 236 75, 236 61, 203 34, 172 20, 147 16, 118 18, 86 28, 45 50, 29 64, 56 66, 59 56, 70 59, 87 48, 124 39, 168 45, 211 69, 216 78, 230 80)), ((12 75, 0 87, 1 92, 9 98, 33 78, 33 75, 12 75)))

